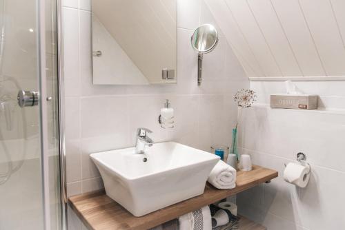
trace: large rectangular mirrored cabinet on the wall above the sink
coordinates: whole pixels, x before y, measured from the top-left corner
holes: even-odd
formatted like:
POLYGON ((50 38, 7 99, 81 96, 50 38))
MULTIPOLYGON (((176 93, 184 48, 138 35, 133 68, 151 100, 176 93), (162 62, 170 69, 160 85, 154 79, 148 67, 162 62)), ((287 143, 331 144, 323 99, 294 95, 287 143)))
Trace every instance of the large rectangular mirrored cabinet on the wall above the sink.
POLYGON ((176 0, 92 0, 95 85, 174 84, 176 0))

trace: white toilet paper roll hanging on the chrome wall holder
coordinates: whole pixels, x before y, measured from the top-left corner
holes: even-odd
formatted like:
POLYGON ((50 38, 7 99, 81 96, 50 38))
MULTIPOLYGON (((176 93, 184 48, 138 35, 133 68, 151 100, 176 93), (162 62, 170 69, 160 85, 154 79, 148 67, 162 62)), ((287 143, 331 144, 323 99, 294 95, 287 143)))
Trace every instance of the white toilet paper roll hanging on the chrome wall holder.
POLYGON ((306 187, 311 174, 309 174, 309 165, 301 165, 298 163, 288 163, 284 170, 284 180, 298 187, 306 187))

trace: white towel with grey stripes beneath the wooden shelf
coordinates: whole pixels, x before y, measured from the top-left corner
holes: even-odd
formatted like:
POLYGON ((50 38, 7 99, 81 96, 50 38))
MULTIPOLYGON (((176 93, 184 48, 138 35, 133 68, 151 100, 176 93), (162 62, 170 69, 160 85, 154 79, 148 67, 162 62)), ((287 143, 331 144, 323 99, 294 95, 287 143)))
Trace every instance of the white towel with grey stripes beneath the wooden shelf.
POLYGON ((210 207, 205 206, 179 217, 179 230, 212 229, 210 207))

